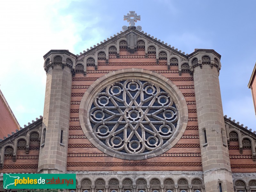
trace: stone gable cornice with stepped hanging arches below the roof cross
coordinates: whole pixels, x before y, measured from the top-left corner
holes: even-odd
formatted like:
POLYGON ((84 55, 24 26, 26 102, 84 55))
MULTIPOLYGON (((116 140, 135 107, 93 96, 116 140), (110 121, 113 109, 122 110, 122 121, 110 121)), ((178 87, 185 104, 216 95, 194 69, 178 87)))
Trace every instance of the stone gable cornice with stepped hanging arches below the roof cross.
POLYGON ((148 53, 156 52, 156 64, 158 64, 159 59, 166 58, 168 69, 170 69, 172 63, 177 63, 177 65, 179 63, 180 74, 181 71, 189 71, 188 54, 185 55, 185 52, 181 53, 171 45, 164 44, 160 39, 157 40, 154 36, 137 31, 132 27, 122 33, 117 33, 113 37, 111 36, 110 39, 108 38, 104 42, 100 42, 100 44, 98 43, 97 46, 94 45, 94 48, 91 47, 90 50, 87 49, 84 53, 80 52, 80 55, 76 55, 76 71, 84 72, 84 75, 86 75, 86 66, 94 66, 95 70, 97 70, 98 58, 104 59, 108 63, 109 52, 116 53, 116 58, 119 58, 120 47, 124 44, 124 46, 127 46, 128 52, 133 54, 140 47, 140 43, 146 48, 145 58, 148 57, 148 53))

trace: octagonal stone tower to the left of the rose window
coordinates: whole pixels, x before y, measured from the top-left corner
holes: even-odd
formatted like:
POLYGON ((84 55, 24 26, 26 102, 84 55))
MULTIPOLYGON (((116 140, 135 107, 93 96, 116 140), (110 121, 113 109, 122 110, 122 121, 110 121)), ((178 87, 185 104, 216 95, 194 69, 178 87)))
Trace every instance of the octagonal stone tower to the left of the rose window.
POLYGON ((51 50, 44 55, 46 89, 38 162, 39 173, 65 173, 72 73, 76 56, 68 50, 51 50))

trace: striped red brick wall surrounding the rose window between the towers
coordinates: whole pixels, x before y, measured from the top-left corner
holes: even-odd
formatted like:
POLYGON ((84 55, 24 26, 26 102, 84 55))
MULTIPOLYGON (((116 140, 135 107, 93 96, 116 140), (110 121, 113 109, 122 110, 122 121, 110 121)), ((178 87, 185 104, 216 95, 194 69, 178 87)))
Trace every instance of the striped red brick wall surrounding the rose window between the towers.
POLYGON ((193 76, 189 73, 179 76, 178 66, 171 66, 168 70, 167 60, 159 60, 159 64, 156 64, 156 56, 148 55, 145 58, 145 51, 134 54, 120 51, 120 58, 109 56, 108 64, 105 60, 98 60, 98 70, 87 67, 86 76, 76 74, 72 79, 69 123, 68 171, 202 171, 193 76), (95 148, 81 129, 78 111, 84 92, 97 78, 124 68, 143 68, 160 73, 176 84, 187 100, 189 118, 186 131, 179 142, 162 155, 139 161, 108 156, 95 148))

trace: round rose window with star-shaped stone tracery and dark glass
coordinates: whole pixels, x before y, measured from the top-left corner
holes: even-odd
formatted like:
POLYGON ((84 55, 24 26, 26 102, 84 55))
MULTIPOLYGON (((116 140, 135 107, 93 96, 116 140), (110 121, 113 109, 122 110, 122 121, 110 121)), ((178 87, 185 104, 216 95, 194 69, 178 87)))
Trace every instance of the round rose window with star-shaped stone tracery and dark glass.
POLYGON ((101 145, 119 154, 146 154, 172 138, 179 118, 173 98, 157 84, 137 79, 112 83, 89 112, 101 145))

